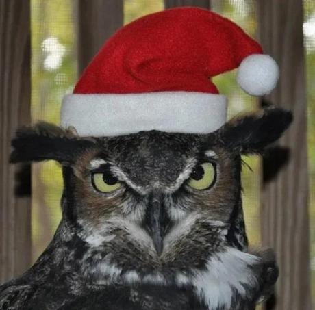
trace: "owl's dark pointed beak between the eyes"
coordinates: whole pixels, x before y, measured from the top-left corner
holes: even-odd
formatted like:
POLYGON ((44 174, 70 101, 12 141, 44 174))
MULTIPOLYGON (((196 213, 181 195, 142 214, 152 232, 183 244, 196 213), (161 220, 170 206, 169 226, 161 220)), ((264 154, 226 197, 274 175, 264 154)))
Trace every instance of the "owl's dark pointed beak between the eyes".
POLYGON ((146 227, 153 240, 153 245, 157 255, 161 255, 163 250, 163 237, 168 226, 168 216, 160 197, 151 199, 147 208, 146 227))

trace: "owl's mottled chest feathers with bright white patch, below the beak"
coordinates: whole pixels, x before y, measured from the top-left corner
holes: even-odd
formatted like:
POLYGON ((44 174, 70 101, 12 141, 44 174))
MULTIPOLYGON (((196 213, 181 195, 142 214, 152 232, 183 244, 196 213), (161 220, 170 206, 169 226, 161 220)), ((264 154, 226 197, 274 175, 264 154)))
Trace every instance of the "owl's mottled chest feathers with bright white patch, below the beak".
MULTIPOLYGON (((116 287, 129 294, 133 302, 138 296, 141 305, 151 305, 137 309, 155 309, 153 305, 160 302, 164 306, 156 309, 176 309, 177 299, 181 300, 180 309, 231 309, 231 305, 246 309, 246 294, 251 287, 255 290, 260 286, 251 269, 259 259, 229 246, 226 229, 219 223, 203 226, 205 223, 189 229, 186 222, 185 233, 183 227, 171 231, 160 256, 143 231, 132 231, 134 227, 125 227, 124 231, 116 228, 114 235, 88 235, 88 243, 81 239, 75 242, 67 256, 66 269, 79 270, 95 298, 103 298, 110 287, 116 287)), ((255 292, 249 295, 255 296, 255 292)))

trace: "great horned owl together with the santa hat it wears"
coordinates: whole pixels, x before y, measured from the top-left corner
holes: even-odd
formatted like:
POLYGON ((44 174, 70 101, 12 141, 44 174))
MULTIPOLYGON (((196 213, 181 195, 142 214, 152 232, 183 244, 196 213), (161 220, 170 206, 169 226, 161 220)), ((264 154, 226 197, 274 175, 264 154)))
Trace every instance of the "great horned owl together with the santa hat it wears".
POLYGON ((105 43, 62 103, 65 129, 18 132, 12 162, 62 164, 62 221, 0 288, 0 309, 250 310, 268 296, 277 267, 270 251, 247 250, 240 156, 277 140, 291 114, 226 123, 211 77, 233 68, 255 95, 279 75, 226 18, 157 12, 105 43))

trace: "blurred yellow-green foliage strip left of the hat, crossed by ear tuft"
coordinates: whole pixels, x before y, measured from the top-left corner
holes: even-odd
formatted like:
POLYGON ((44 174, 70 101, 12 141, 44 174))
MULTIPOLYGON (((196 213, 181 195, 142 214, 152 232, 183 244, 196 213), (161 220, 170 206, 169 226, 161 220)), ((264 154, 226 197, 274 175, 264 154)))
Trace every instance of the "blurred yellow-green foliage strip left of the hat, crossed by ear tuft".
MULTIPOLYGON (((71 0, 31 0, 31 118, 59 123, 60 103, 77 79, 71 0)), ((32 167, 34 260, 60 221, 62 173, 55 162, 32 167)))

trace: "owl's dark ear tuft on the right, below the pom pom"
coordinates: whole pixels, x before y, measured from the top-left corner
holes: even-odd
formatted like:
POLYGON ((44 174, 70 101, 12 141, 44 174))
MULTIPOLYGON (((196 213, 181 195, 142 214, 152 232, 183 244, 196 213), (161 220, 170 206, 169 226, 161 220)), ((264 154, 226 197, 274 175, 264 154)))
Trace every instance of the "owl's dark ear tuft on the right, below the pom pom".
POLYGON ((242 154, 262 153, 280 138, 292 122, 292 113, 280 108, 236 116, 219 129, 224 146, 242 154))

